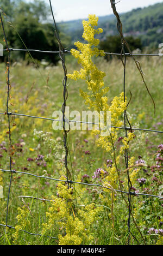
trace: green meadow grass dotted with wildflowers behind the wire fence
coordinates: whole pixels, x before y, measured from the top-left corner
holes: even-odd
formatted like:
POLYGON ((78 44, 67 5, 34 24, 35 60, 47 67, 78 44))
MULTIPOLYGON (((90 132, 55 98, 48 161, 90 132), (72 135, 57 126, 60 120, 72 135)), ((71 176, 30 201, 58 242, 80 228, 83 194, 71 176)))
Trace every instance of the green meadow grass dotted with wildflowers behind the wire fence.
MULTIPOLYGON (((145 85, 141 81, 140 74, 135 67, 134 62, 130 57, 127 58, 126 69, 126 94, 129 100, 130 92, 132 94, 131 102, 128 106, 127 113, 133 127, 145 129, 162 130, 163 114, 162 114, 162 64, 161 57, 141 57, 138 58, 145 75, 145 80, 151 92, 155 105, 156 113, 152 100, 147 93, 145 85)), ((66 56, 67 73, 72 73, 74 69, 79 69, 78 63, 72 56, 66 56)), ((109 86, 110 90, 107 96, 111 102, 112 98, 123 91, 123 66, 120 59, 112 58, 110 62, 106 62, 103 57, 95 59, 95 63, 99 69, 106 73, 104 78, 105 86, 109 86)), ((0 65, 0 112, 6 111, 7 102, 7 85, 5 84, 5 65, 0 65)), ((60 110, 63 102, 63 86, 62 79, 64 73, 61 63, 58 66, 49 66, 47 68, 34 67, 34 64, 26 65, 26 62, 13 63, 10 70, 10 84, 12 86, 10 94, 10 110, 21 114, 42 116, 52 118, 52 113, 55 110, 60 110)), ((68 99, 67 106, 70 106, 70 111, 78 110, 82 112, 87 110, 84 100, 79 94, 79 89, 86 91, 86 85, 81 81, 68 80, 68 99)), ((123 119, 123 117, 122 117, 123 119)), ((29 117, 13 116, 11 123, 11 141, 15 147, 13 156, 13 169, 17 171, 31 172, 35 175, 45 175, 48 177, 59 178, 63 173, 63 132, 62 130, 53 130, 52 121, 37 120, 29 117), (13 126, 14 123, 14 126, 13 126), (34 136, 34 129, 42 130, 43 133, 49 133, 51 139, 55 139, 56 147, 53 150, 44 143, 42 139, 34 136), (39 157, 43 156, 43 157, 39 157)), ((0 130, 0 166, 1 169, 9 170, 8 156, 8 123, 7 116, 1 115, 1 130, 0 130)), ((120 130, 118 135, 124 136, 124 130, 120 130)), ((158 194, 161 183, 154 184, 151 187, 153 173, 151 166, 155 164, 155 155, 158 150, 158 145, 162 142, 162 135, 159 133, 145 133, 135 131, 135 139, 130 147, 129 157, 135 156, 137 160, 139 156, 147 163, 146 171, 141 171, 137 178, 145 177, 147 182, 140 186, 139 182, 135 183, 136 189, 140 192, 147 191, 153 194, 158 194)), ((68 147, 70 148, 70 156, 68 157, 68 166, 73 172, 74 180, 97 183, 93 180, 93 173, 98 168, 105 168, 107 159, 111 159, 109 153, 105 153, 95 144, 95 137, 89 130, 70 130, 68 133, 68 147), (84 141, 85 140, 85 141, 84 141), (90 154, 86 152, 89 151, 90 154), (71 157, 71 158, 70 158, 71 157), (87 174, 86 179, 83 176, 87 174)), ((55 143, 54 142, 54 143, 55 143)), ((125 169, 122 162, 122 170, 125 169)), ((5 215, 7 210, 7 197, 10 181, 10 174, 3 172, 3 188, 4 197, 0 199, 1 216, 0 223, 5 224, 5 215)), ((160 177, 161 179, 161 177, 160 177)), ((161 180, 160 180, 161 182, 161 180)), ((18 207, 28 209, 27 219, 30 225, 26 230, 32 233, 41 234, 42 223, 46 222, 46 212, 48 211, 49 202, 35 199, 27 199, 19 197, 20 195, 28 195, 31 197, 51 199, 52 195, 57 193, 57 182, 35 178, 28 175, 13 175, 11 184, 11 193, 9 201, 8 224, 15 227, 17 224, 16 216, 18 215, 18 207)), ((128 239, 127 218, 128 209, 124 204, 121 194, 116 195, 114 202, 114 227, 112 225, 111 209, 110 209, 110 194, 104 192, 98 187, 87 187, 76 185, 77 207, 82 208, 86 203, 95 203, 102 207, 102 213, 92 225, 92 233, 94 240, 92 244, 96 245, 126 245, 128 239), (105 200, 99 197, 103 193, 105 200)), ((160 228, 163 219, 161 216, 161 200, 156 198, 133 197, 131 200, 133 211, 137 225, 145 237, 147 244, 155 244, 160 235, 149 235, 149 228, 160 228)), ((131 231, 138 237, 140 244, 143 243, 141 236, 135 225, 131 221, 131 231)), ((14 230, 0 227, 0 244, 7 245, 13 243, 14 230)), ((61 230, 51 230, 47 235, 57 236, 61 230)), ((56 245, 58 242, 55 239, 47 237, 37 237, 28 235, 20 231, 19 245, 56 245)), ((87 244, 87 241, 85 241, 87 244)), ((136 245, 136 241, 131 237, 131 244, 136 245)))

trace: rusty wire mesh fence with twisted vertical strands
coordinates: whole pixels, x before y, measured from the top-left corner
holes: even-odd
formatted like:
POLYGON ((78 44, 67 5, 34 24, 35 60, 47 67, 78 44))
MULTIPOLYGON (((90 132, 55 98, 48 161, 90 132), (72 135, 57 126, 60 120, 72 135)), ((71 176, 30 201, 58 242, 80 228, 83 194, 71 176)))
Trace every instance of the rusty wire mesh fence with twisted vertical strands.
MULTIPOLYGON (((131 57, 133 58, 137 69, 139 69, 140 75, 143 79, 143 73, 140 67, 140 63, 137 62, 134 58, 134 56, 160 56, 160 54, 148 54, 148 53, 132 53, 129 49, 129 45, 127 43, 127 41, 124 39, 123 37, 123 32, 122 32, 122 23, 120 20, 120 16, 117 13, 116 10, 116 5, 115 5, 115 1, 114 0, 110 0, 111 3, 111 7, 113 10, 114 15, 116 16, 117 19, 117 29, 118 32, 120 33, 121 36, 121 41, 122 41, 122 50, 121 53, 112 53, 112 52, 105 52, 106 55, 116 55, 116 56, 120 56, 121 57, 121 61, 124 67, 124 72, 123 72, 123 93, 124 93, 124 102, 125 102, 125 95, 126 95, 126 59, 127 57, 131 57), (127 49, 129 52, 125 52, 124 50, 124 45, 127 46, 127 49)), ((4 24, 3 24, 3 19, 2 19, 2 12, 0 10, 0 20, 1 20, 1 25, 2 25, 2 30, 3 30, 3 35, 4 35, 4 41, 5 41, 5 45, 6 45, 6 49, 3 49, 2 51, 6 51, 8 53, 8 62, 7 62, 7 108, 6 108, 6 112, 1 112, 0 115, 5 115, 8 118, 8 129, 9 129, 9 170, 5 170, 5 169, 0 169, 0 171, 2 172, 9 172, 10 173, 10 182, 9 182, 9 189, 8 189, 8 198, 7 198, 7 210, 6 210, 6 220, 5 220, 5 224, 1 224, 1 227, 8 227, 11 229, 15 229, 14 227, 12 227, 11 225, 9 225, 8 223, 8 214, 9 214, 9 200, 10 200, 10 190, 11 190, 11 184, 12 184, 12 180, 13 180, 13 175, 14 174, 24 174, 24 175, 28 175, 28 176, 34 176, 36 178, 45 178, 48 180, 53 180, 53 181, 59 181, 59 182, 66 182, 67 186, 71 186, 71 184, 82 184, 83 186, 96 186, 96 187, 101 187, 101 188, 105 188, 105 189, 109 189, 112 190, 112 188, 105 186, 104 184, 93 184, 93 183, 84 183, 84 182, 77 182, 77 181, 73 181, 72 177, 71 177, 71 172, 68 169, 68 164, 67 164, 67 158, 68 158, 68 145, 67 145, 67 133, 70 131, 70 129, 66 130, 65 128, 65 122, 67 122, 66 117, 65 117, 65 108, 66 108, 66 100, 68 97, 68 91, 67 91, 67 69, 66 69, 66 64, 65 64, 65 54, 70 53, 70 51, 65 50, 64 47, 61 44, 61 40, 59 37, 59 33, 58 33, 58 29, 55 23, 55 19, 54 19, 54 14, 53 14, 53 10, 52 10, 52 4, 51 4, 51 0, 49 0, 49 4, 51 7, 51 13, 52 13, 52 17, 53 17, 53 22, 54 22, 54 34, 55 34, 55 38, 58 41, 58 45, 59 45, 59 51, 42 51, 42 50, 35 50, 35 49, 12 49, 9 48, 8 45, 8 40, 7 40, 7 35, 5 34, 5 29, 4 29, 4 24), (39 117, 39 116, 32 116, 32 115, 26 115, 26 114, 18 114, 18 113, 12 113, 9 112, 9 91, 10 91, 10 61, 11 61, 11 52, 12 51, 27 51, 27 52, 41 52, 41 53, 54 53, 54 54, 59 54, 59 57, 61 59, 61 63, 62 63, 62 69, 64 70, 64 78, 62 80, 62 86, 64 88, 63 90, 63 98, 64 98, 64 102, 62 104, 62 120, 60 119, 53 119, 53 118, 48 118, 48 117, 39 117), (52 177, 47 177, 47 176, 39 176, 39 175, 35 175, 32 174, 30 172, 24 172, 24 171, 16 171, 12 169, 12 144, 11 144, 11 129, 10 129, 10 118, 12 116, 23 116, 23 117, 30 117, 30 118, 40 118, 43 120, 49 120, 49 121, 62 121, 62 128, 64 130, 64 148, 65 148, 65 159, 64 159, 64 164, 65 164, 65 169, 66 169, 66 180, 60 180, 57 178, 52 178, 52 177)), ((148 87, 146 85, 145 80, 143 79, 143 82, 147 88, 148 91, 148 87)), ((148 91, 149 96, 151 96, 151 93, 148 91)), ((152 98, 152 96, 151 96, 152 98)), ((154 104, 154 100, 152 98, 153 104, 154 104)), ((155 104, 154 104, 154 109, 155 109, 155 104)), ((82 121, 74 121, 74 120, 68 120, 68 122, 80 122, 80 123, 86 123, 86 124, 97 124, 98 123, 93 123, 93 122, 82 122, 82 121)), ((69 126, 70 127, 70 126, 69 126)), ((115 128, 115 129, 123 129, 125 131, 125 135, 127 136, 127 131, 128 130, 140 130, 140 131, 146 131, 146 132, 154 132, 154 133, 163 133, 163 131, 161 130, 153 130, 153 129, 144 129, 144 128, 134 128, 131 127, 128 117, 127 117, 127 112, 126 110, 124 111, 124 127, 116 127, 116 126, 110 126, 111 128, 115 128)), ((123 191, 121 188, 120 189, 114 189, 115 192, 121 193, 121 194, 127 194, 128 197, 128 245, 130 244, 130 235, 134 237, 134 239, 137 241, 137 243, 139 243, 139 241, 137 240, 137 238, 135 237, 135 235, 131 232, 130 230, 130 218, 132 216, 131 213, 131 197, 135 196, 135 195, 140 195, 140 196, 145 196, 145 197, 153 197, 153 198, 158 198, 158 199, 163 199, 163 197, 161 197, 160 195, 153 195, 153 194, 145 194, 145 193, 135 193, 131 191, 131 181, 130 181, 130 177, 129 177, 129 169, 133 166, 140 166, 141 164, 137 164, 137 165, 133 165, 133 166, 129 166, 128 164, 128 150, 125 150, 124 153, 124 159, 125 159, 125 163, 126 163, 126 171, 127 171, 127 177, 128 177, 128 191, 123 191)), ((41 199, 41 198, 36 198, 36 197, 29 197, 29 196, 25 196, 25 195, 20 195, 20 197, 24 197, 24 198, 32 198, 32 199, 36 199, 36 200, 42 200, 42 201, 52 201, 52 200, 48 200, 48 199, 41 199)), ((123 198, 124 199, 124 198, 123 198)), ((136 226, 137 227, 137 226, 136 226)), ((137 229, 139 230, 139 228, 137 227, 137 229)), ((37 234, 37 233, 30 233, 27 230, 23 230, 20 229, 20 231, 23 231, 25 233, 28 233, 30 235, 35 235, 35 236, 42 236, 41 234, 37 234)), ((139 230, 140 232, 140 230, 139 230)), ((141 232, 140 232, 141 234, 141 232)), ((46 236, 43 235, 45 237, 51 238, 51 239, 58 239, 57 237, 53 237, 53 236, 46 236)), ((141 235, 142 236, 142 235, 141 235)), ((143 237, 142 237, 143 239, 143 237)))

